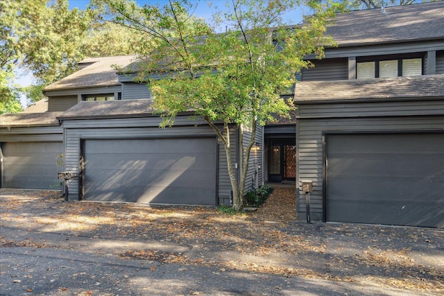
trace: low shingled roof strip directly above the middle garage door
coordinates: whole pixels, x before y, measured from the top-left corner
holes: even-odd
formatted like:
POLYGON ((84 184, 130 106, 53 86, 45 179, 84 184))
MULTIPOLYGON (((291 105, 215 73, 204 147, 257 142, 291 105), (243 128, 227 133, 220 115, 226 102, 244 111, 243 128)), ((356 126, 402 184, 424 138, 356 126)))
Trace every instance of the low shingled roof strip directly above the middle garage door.
POLYGON ((101 119, 115 117, 150 116, 153 114, 151 100, 81 101, 58 119, 101 119))

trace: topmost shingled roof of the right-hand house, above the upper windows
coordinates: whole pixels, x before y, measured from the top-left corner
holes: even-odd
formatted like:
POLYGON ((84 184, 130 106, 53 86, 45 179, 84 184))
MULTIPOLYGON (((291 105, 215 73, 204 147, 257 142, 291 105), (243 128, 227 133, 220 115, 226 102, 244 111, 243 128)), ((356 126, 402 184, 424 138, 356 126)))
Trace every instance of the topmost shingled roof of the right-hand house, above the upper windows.
POLYGON ((357 10, 327 28, 339 47, 444 38, 444 1, 357 10))

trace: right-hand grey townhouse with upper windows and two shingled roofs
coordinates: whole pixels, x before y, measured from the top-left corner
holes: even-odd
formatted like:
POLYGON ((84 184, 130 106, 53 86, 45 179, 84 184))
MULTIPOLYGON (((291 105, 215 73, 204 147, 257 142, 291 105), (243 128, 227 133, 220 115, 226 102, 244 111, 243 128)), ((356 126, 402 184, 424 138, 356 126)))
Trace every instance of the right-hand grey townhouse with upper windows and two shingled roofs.
MULTIPOLYGON (((444 227, 444 1, 339 15, 296 85, 298 218, 444 227)), ((310 59, 310 57, 308 57, 310 59)))

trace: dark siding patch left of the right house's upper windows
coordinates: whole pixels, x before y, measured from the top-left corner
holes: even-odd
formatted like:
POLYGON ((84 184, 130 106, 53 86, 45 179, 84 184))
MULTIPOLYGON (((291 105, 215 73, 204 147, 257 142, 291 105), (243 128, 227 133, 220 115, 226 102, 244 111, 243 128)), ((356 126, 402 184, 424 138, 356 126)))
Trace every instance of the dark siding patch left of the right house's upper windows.
POLYGON ((302 71, 302 81, 348 79, 348 59, 325 59, 312 62, 313 68, 302 71))

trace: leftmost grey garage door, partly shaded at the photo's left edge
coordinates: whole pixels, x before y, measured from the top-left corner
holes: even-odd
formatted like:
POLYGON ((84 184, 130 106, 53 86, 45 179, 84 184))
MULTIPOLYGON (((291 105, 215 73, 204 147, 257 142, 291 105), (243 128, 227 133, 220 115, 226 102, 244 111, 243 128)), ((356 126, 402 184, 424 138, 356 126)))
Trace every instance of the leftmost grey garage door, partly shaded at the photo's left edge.
POLYGON ((60 189, 56 166, 60 142, 3 143, 3 188, 60 189))

